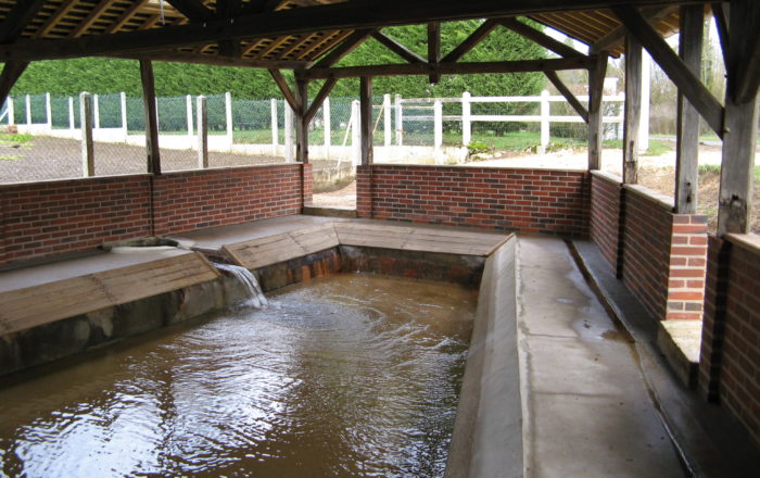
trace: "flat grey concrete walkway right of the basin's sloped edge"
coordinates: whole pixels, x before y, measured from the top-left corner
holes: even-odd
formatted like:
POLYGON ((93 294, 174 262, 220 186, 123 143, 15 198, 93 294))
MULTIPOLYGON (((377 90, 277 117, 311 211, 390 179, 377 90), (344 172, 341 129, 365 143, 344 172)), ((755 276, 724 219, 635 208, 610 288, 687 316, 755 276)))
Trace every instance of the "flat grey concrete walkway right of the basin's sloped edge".
POLYGON ((631 339, 568 247, 520 237, 517 269, 525 476, 684 476, 631 339))

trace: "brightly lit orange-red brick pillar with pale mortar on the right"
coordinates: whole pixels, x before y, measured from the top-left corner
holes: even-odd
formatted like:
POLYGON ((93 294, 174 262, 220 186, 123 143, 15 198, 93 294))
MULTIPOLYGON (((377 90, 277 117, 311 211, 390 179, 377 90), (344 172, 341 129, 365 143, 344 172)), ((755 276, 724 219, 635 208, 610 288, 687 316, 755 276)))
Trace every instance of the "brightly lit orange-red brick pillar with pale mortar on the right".
POLYGON ((707 216, 673 214, 664 318, 702 318, 707 216))

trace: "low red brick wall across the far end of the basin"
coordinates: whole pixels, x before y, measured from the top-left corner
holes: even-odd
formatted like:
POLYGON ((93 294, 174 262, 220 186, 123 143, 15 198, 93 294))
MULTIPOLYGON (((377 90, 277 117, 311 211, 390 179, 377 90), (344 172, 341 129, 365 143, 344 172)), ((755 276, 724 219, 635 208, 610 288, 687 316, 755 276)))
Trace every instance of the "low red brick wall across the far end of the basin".
POLYGON ((359 217, 588 235, 585 172, 376 164, 356 174, 359 217))

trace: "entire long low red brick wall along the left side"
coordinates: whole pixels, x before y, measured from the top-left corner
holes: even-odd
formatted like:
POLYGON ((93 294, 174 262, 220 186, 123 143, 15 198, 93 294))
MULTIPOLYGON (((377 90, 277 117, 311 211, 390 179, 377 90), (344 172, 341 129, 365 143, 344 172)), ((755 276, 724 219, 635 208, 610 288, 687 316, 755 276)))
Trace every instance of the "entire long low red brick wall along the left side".
POLYGON ((297 214, 311 172, 282 164, 0 186, 0 264, 150 236, 151 202, 156 235, 297 214))

